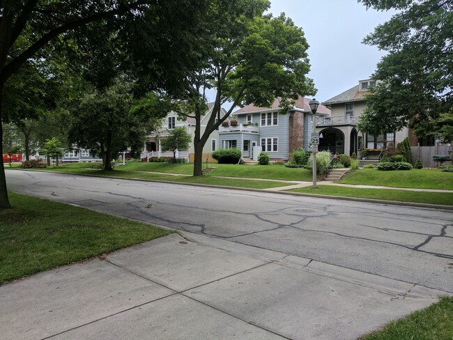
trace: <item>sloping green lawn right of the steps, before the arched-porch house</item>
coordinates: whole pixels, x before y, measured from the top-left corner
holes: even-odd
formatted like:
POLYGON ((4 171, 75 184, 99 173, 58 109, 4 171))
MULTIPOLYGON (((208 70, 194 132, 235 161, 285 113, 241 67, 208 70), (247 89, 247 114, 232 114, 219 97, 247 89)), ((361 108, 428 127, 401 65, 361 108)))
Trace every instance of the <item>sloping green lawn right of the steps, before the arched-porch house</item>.
POLYGON ((412 169, 409 171, 359 169, 348 173, 348 176, 339 183, 453 190, 453 173, 442 172, 440 169, 412 169))

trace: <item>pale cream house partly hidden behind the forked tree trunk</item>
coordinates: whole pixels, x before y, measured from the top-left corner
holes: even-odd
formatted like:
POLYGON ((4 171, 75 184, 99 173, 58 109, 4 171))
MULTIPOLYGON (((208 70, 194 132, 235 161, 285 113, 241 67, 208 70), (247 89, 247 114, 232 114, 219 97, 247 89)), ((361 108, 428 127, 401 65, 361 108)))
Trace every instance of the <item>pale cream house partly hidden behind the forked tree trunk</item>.
MULTIPOLYGON (((201 117, 201 134, 204 133, 206 130, 206 124, 210 118, 210 115, 213 112, 214 102, 208 103, 208 109, 204 116, 201 117)), ((221 109, 220 112, 221 116, 227 114, 225 109, 221 109)), ((141 153, 142 160, 148 160, 152 157, 173 157, 172 151, 164 151, 162 150, 162 139, 165 139, 169 135, 169 131, 174 129, 177 126, 184 126, 187 129, 187 132, 192 136, 192 143, 189 146, 188 150, 178 150, 178 157, 184 157, 189 160, 193 160, 194 155, 194 143, 193 139, 195 136, 195 127, 196 121, 195 118, 187 117, 185 121, 178 119, 178 114, 176 112, 171 111, 165 118, 162 119, 162 125, 158 132, 152 132, 144 145, 144 150, 141 153)), ((205 144, 203 148, 204 159, 208 157, 210 153, 217 150, 219 142, 219 134, 218 129, 215 130, 210 134, 209 141, 205 144)))

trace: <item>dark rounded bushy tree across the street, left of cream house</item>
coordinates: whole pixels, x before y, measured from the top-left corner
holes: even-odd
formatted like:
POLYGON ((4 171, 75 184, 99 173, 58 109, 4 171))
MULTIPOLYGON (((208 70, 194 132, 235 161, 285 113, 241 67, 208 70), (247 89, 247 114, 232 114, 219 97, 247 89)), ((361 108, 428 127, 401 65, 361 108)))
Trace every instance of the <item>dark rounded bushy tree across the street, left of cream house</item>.
MULTIPOLYGON (((159 102, 150 95, 147 98, 159 102)), ((91 87, 72 105, 69 141, 100 155, 103 169, 112 170, 112 159, 118 153, 129 149, 139 154, 150 127, 166 114, 150 103, 147 107, 135 102, 132 84, 125 79, 102 90, 91 87)))

